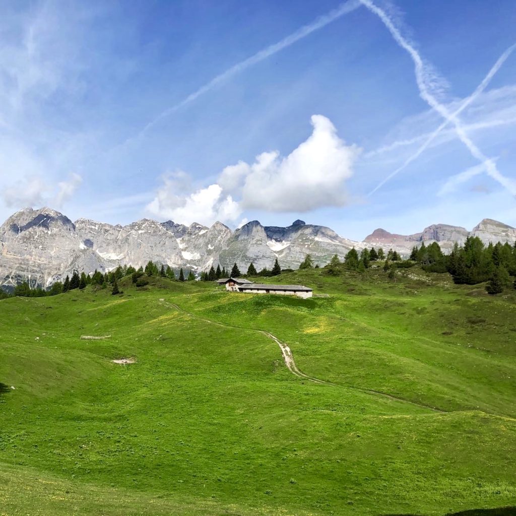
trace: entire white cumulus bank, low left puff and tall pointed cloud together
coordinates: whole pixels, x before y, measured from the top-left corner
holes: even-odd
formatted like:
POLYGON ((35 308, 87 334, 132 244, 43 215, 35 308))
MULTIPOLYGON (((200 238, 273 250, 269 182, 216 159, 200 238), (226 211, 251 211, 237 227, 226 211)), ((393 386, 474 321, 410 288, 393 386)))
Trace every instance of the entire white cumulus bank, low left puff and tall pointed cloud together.
POLYGON ((252 164, 239 161, 205 188, 192 188, 184 172, 164 175, 147 211, 175 222, 211 224, 236 223, 244 209, 308 212, 346 204, 345 182, 360 149, 346 146, 328 118, 314 115, 311 120, 312 134, 288 156, 272 151, 259 154, 252 164))

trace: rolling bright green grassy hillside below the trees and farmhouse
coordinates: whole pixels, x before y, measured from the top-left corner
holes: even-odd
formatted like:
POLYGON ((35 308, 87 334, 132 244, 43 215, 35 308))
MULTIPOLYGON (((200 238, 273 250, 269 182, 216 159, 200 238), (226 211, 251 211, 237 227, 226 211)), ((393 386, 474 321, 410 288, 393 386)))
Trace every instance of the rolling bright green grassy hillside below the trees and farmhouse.
POLYGON ((514 505, 512 294, 416 269, 273 282, 329 296, 126 279, 0 301, 0 515, 514 505))

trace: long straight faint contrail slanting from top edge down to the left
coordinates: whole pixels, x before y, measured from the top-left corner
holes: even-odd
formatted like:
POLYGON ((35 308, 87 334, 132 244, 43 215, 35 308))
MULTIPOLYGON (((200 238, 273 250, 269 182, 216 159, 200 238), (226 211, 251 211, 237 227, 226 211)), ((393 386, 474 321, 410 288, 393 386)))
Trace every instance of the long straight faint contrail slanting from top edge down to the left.
POLYGON ((213 79, 209 80, 206 84, 201 86, 199 89, 194 91, 193 93, 190 93, 188 96, 186 96, 181 102, 178 102, 177 104, 174 104, 172 107, 169 107, 168 109, 165 109, 163 112, 161 112, 154 120, 149 122, 143 129, 140 131, 140 133, 137 135, 136 138, 140 138, 143 136, 151 127, 153 127, 157 122, 160 120, 163 120, 164 118, 168 117, 175 111, 178 111, 182 107, 186 106, 187 104, 190 104, 190 102, 195 101, 198 99, 201 95, 204 93, 207 93, 209 90, 213 89, 215 86, 219 85, 220 83, 223 83, 225 80, 229 79, 233 75, 236 75, 247 68, 256 65, 256 63, 259 63, 260 61, 263 61, 264 59, 267 59, 268 57, 272 56, 273 54, 276 54, 280 52, 283 49, 286 49, 286 47, 291 46, 292 44, 296 43, 300 39, 303 39, 307 37, 308 35, 312 34, 316 30, 321 29, 322 27, 325 27, 329 23, 337 20, 338 18, 341 18, 345 14, 349 14, 350 12, 354 11, 355 9, 360 7, 359 0, 348 0, 347 2, 342 3, 337 8, 331 10, 327 14, 321 15, 318 18, 316 18, 312 23, 308 25, 303 25, 299 29, 297 29, 294 33, 289 34, 282 40, 278 41, 277 43, 273 43, 269 46, 267 46, 265 49, 256 52, 256 54, 252 55, 251 57, 248 57, 247 59, 244 59, 243 61, 240 61, 236 63, 236 65, 233 65, 231 68, 226 70, 225 72, 220 73, 213 79))

